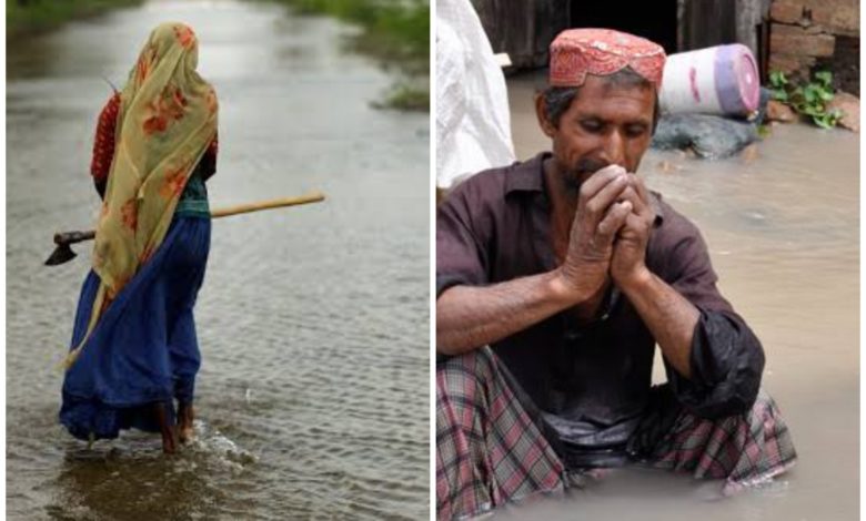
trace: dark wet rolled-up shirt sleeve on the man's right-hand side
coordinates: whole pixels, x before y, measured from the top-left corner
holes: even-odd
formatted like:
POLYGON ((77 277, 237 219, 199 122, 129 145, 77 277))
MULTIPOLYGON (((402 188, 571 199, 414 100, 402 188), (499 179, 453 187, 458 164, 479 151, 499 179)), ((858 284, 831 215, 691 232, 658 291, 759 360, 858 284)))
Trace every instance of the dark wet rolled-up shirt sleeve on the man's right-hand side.
POLYGON ((697 416, 719 418, 752 408, 761 387, 764 349, 755 334, 718 293, 706 244, 687 226, 669 257, 671 285, 701 311, 692 340, 692 378, 666 364, 681 403, 697 416))

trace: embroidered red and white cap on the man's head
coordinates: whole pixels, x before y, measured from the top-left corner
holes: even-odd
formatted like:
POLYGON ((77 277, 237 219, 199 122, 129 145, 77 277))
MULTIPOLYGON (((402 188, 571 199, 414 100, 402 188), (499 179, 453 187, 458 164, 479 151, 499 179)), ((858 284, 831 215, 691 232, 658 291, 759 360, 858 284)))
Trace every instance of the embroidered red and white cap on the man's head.
POLYGON ((604 76, 626 67, 657 91, 665 51, 650 40, 612 29, 568 29, 551 43, 551 86, 581 86, 587 73, 604 76))

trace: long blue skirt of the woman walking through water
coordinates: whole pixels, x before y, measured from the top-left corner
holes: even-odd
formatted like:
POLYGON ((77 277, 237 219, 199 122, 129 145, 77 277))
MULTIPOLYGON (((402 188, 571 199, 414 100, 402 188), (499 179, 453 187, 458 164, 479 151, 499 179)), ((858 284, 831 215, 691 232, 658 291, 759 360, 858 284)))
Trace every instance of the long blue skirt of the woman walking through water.
MULTIPOLYGON (((63 379, 60 422, 75 438, 159 432, 153 403, 174 418, 191 402, 201 365, 193 306, 204 279, 210 218, 177 216, 160 248, 105 309, 63 379)), ((99 277, 84 279, 72 347, 87 331, 99 277)))

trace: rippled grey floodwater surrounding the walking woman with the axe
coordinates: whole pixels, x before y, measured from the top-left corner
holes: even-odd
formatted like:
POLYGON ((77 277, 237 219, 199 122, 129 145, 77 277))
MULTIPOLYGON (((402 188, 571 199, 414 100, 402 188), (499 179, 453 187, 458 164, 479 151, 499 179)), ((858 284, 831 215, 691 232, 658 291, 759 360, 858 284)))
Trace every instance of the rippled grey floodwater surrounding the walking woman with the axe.
POLYGON ((10 45, 7 85, 9 519, 426 519, 429 116, 377 111, 391 78, 352 29, 266 2, 153 1, 10 45), (89 248, 97 114, 150 29, 190 23, 220 96, 212 206, 321 190, 318 205, 214 222, 197 306, 198 441, 92 450, 59 426, 89 248))

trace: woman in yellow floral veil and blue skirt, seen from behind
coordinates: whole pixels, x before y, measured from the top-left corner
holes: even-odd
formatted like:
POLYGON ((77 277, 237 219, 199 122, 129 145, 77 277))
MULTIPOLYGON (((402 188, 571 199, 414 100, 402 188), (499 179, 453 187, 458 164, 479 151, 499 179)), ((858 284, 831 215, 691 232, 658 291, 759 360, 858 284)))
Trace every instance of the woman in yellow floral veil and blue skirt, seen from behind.
POLYGON ((60 410, 82 440, 137 428, 161 432, 173 452, 193 433, 192 310, 210 248, 218 113, 197 63, 192 30, 159 25, 100 114, 91 173, 103 204, 60 410))

